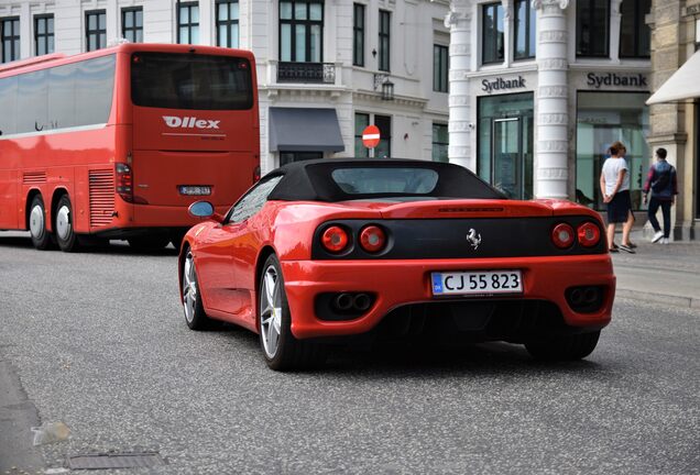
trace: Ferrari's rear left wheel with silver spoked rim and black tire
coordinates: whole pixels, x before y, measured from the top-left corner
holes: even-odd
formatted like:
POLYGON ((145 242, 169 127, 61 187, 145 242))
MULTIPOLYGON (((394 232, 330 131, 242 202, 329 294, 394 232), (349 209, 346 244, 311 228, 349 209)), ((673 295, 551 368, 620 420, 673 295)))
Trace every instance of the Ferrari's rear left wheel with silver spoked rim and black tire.
POLYGON ((267 366, 284 372, 322 365, 328 355, 327 346, 316 341, 297 340, 292 334, 292 313, 284 290, 284 278, 280 261, 274 254, 267 257, 263 265, 258 288, 260 347, 267 366), (269 290, 271 286, 272 290, 269 290), (278 314, 275 308, 281 310, 278 314), (277 327, 278 330, 275 330, 277 327), (273 344, 275 333, 276 344, 273 344))

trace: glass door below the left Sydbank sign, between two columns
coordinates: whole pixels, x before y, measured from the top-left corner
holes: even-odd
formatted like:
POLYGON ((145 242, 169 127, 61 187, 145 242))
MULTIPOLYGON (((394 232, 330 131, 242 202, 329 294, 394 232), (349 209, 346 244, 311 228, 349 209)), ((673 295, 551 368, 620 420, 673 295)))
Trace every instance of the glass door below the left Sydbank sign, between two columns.
POLYGON ((493 120, 493 185, 510 198, 525 198, 521 118, 493 120))

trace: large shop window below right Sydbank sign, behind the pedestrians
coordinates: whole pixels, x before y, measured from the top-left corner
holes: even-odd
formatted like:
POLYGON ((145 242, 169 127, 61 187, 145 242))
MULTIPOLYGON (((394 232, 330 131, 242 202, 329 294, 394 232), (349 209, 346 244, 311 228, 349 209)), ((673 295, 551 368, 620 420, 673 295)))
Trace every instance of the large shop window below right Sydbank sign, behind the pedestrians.
POLYGON ((576 126, 576 201, 595 210, 605 209, 600 195, 600 173, 608 148, 622 141, 627 150, 632 208, 644 208, 642 187, 650 151, 646 141, 649 113, 646 92, 578 93, 576 126))

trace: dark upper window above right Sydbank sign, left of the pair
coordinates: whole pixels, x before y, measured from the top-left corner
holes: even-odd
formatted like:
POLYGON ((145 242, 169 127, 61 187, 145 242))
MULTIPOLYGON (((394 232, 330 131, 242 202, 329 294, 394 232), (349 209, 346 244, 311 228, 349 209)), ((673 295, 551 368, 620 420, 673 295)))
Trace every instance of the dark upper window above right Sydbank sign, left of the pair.
POLYGON ((576 55, 610 56, 610 0, 576 2, 576 55))

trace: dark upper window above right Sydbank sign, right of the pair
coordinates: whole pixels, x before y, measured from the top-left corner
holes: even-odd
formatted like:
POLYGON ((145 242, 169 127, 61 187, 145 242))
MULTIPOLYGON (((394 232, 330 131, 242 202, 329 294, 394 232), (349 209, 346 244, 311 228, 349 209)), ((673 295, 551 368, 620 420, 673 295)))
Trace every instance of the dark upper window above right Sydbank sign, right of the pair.
POLYGON ((620 57, 649 57, 652 31, 645 22, 652 0, 625 0, 620 7, 620 57))

